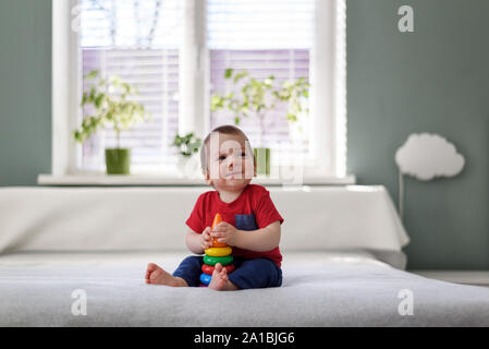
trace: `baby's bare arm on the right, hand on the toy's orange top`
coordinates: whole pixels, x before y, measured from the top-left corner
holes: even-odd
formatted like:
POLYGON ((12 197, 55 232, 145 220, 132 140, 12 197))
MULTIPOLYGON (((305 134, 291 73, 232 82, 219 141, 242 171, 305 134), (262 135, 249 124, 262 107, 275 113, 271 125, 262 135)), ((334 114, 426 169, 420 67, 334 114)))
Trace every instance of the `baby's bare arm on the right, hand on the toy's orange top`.
POLYGON ((225 242, 230 246, 267 252, 273 250, 280 243, 280 221, 276 220, 257 230, 237 230, 230 224, 221 222, 212 231, 211 237, 219 238, 219 242, 225 242))

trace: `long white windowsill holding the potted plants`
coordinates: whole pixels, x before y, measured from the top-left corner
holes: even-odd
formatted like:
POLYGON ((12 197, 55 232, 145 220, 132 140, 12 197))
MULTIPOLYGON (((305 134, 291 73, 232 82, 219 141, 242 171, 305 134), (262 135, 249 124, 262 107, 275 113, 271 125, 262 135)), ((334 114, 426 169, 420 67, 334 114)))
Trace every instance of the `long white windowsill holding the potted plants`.
MULTIPOLYGON (((346 185, 355 184, 355 176, 345 177, 309 177, 299 183, 279 178, 255 177, 254 184, 261 185, 346 185)), ((166 185, 206 185, 203 178, 184 178, 164 174, 39 174, 38 185, 53 186, 166 186, 166 185)))

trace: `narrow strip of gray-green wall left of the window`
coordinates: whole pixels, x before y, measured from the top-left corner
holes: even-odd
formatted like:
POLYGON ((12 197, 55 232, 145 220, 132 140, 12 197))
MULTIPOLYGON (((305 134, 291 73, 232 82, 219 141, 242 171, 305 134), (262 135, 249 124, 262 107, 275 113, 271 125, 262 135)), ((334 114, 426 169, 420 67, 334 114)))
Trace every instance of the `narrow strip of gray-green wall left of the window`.
POLYGON ((0 185, 51 170, 51 1, 0 1, 0 185))

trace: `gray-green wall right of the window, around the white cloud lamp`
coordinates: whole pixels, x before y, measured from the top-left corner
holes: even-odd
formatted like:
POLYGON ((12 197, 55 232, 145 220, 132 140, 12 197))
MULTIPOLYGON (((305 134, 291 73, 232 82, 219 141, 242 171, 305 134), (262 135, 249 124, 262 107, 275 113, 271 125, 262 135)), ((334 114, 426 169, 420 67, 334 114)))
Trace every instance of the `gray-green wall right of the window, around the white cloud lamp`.
POLYGON ((347 2, 347 169, 398 200, 395 151, 413 132, 453 142, 452 179, 406 178, 411 268, 489 268, 489 1, 347 2), (414 9, 414 33, 398 9, 414 9))

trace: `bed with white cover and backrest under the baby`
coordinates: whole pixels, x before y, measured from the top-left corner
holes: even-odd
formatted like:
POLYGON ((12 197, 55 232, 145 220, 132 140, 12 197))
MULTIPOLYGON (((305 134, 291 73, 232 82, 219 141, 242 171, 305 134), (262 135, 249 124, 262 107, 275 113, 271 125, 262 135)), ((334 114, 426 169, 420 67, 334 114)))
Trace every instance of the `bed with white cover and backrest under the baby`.
POLYGON ((188 255, 205 190, 0 189, 0 326, 489 326, 489 288, 404 270, 382 186, 270 189, 289 219, 280 288, 146 285, 149 262, 188 255))

